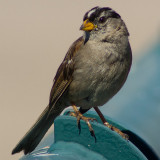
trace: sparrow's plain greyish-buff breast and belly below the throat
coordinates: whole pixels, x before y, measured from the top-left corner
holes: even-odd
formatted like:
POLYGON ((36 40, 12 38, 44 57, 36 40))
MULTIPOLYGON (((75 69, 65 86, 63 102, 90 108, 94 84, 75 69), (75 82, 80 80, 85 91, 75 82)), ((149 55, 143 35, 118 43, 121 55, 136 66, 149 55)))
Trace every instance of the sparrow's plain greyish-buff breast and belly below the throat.
POLYGON ((121 88, 129 72, 125 57, 119 56, 110 44, 88 41, 74 61, 69 97, 70 101, 82 108, 106 103, 121 88))

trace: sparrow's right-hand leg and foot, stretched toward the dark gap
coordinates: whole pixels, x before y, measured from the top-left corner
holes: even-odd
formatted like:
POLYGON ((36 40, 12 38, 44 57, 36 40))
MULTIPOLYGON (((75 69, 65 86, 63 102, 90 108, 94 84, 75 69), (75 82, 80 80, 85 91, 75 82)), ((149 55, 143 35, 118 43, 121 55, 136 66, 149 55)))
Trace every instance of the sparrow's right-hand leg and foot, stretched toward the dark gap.
POLYGON ((99 115, 100 119, 102 120, 103 124, 105 126, 107 126, 108 128, 110 128, 111 130, 117 132, 119 135, 121 135, 124 139, 128 140, 129 136, 125 133, 123 133, 121 130, 119 130, 118 128, 112 126, 111 124, 109 124, 107 122, 107 120, 104 118, 103 114, 101 113, 101 111, 99 110, 98 107, 94 107, 95 111, 97 112, 97 114, 99 115))

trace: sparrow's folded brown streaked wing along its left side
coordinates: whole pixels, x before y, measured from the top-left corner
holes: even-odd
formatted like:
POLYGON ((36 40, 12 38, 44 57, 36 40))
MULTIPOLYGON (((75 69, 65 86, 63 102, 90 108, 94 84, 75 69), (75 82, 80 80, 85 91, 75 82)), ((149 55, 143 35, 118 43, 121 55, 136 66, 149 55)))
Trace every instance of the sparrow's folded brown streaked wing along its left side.
POLYGON ((69 84, 72 82, 72 73, 74 71, 73 57, 78 49, 84 43, 83 37, 78 38, 69 48, 63 62, 59 66, 53 81, 50 93, 49 108, 52 109, 69 84), (68 63, 70 61, 70 63, 68 63))

